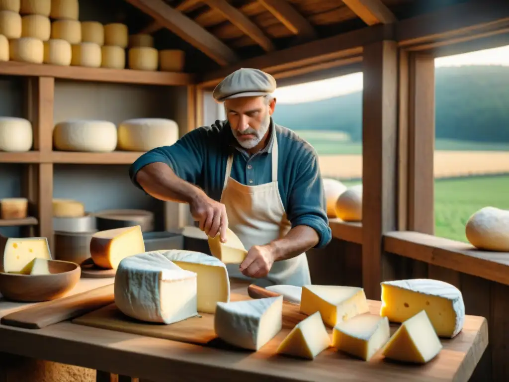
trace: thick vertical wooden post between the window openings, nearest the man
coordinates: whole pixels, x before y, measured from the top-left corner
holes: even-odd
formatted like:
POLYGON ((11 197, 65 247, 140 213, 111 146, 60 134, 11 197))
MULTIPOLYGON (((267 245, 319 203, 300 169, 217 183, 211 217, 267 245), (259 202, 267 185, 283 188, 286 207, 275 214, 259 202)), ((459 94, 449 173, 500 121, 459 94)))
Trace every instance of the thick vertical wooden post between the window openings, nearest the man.
POLYGON ((382 256, 385 232, 396 227, 398 45, 381 41, 364 47, 362 104, 362 285, 368 298, 380 296, 380 282, 392 279, 382 256))

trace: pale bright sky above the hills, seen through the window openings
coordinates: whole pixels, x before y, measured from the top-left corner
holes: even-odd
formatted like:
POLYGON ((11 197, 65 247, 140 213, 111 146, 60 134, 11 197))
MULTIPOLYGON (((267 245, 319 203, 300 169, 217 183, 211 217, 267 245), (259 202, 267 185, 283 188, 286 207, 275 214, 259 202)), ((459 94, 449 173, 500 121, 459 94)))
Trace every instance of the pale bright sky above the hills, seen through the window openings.
MULTIPOLYGON (((463 65, 509 66, 509 45, 435 59, 435 67, 437 68, 463 65)), ((362 90, 361 72, 305 84, 280 87, 276 89, 274 95, 277 98, 277 103, 288 104, 318 101, 360 90, 362 90)))

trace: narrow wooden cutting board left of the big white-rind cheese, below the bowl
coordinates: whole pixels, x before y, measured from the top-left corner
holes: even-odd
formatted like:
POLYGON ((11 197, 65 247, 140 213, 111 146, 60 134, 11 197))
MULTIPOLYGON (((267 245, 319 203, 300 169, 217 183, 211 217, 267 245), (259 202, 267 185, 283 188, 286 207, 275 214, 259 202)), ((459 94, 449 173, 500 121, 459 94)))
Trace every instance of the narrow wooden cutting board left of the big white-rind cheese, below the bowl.
POLYGON ((26 329, 65 321, 115 302, 113 284, 34 305, 2 317, 3 325, 26 329))

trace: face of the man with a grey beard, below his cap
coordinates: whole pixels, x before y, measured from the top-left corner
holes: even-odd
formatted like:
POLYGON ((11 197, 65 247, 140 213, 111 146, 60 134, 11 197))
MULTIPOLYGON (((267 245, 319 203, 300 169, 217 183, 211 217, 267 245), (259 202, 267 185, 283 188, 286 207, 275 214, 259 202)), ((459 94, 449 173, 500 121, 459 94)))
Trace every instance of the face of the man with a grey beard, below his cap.
POLYGON ((265 97, 240 97, 224 102, 232 133, 243 148, 252 149, 264 138, 275 103, 275 98, 267 103, 265 97))

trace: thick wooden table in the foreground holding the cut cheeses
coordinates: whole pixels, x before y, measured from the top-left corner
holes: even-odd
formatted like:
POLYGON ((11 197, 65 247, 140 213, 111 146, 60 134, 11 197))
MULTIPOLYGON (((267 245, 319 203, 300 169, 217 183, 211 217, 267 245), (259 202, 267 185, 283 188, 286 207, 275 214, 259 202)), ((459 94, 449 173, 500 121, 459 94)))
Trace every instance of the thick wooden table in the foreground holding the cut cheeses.
MULTIPOLYGON (((232 292, 246 293, 233 283, 232 292)), ((0 315, 2 303, 0 303, 0 315)), ((40 330, 0 325, 0 351, 150 381, 467 381, 488 344, 483 317, 467 316, 456 339, 444 340, 422 366, 358 361, 330 348, 314 361, 268 356, 270 350, 223 350, 61 322, 40 330), (443 362, 443 359, 446 362, 443 362), (466 361, 469 360, 469 361, 466 361), (440 362, 437 362, 440 361, 440 362)), ((268 344, 275 347, 277 344, 268 344)))

